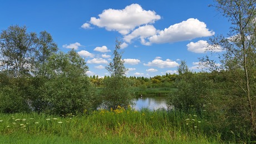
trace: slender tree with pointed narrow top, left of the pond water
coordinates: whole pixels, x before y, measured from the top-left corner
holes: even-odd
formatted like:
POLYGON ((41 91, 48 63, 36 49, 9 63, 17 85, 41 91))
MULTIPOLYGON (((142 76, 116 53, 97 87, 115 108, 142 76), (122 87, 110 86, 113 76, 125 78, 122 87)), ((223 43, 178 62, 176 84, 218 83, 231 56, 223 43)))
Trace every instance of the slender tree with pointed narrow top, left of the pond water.
POLYGON ((120 42, 116 40, 116 46, 114 50, 114 58, 109 66, 106 67, 110 72, 111 77, 104 81, 104 106, 106 108, 114 108, 117 106, 127 108, 131 104, 132 92, 131 83, 129 78, 125 77, 127 69, 124 66, 124 60, 122 59, 122 52, 120 50, 120 42))

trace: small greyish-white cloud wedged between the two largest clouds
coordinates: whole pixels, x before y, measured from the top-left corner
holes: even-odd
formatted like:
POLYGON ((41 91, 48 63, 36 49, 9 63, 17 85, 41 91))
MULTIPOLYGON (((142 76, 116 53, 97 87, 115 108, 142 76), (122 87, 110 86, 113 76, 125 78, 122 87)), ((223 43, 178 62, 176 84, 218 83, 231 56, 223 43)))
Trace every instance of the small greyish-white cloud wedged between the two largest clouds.
POLYGON ((156 34, 156 28, 152 25, 141 26, 135 29, 130 34, 124 36, 124 41, 131 42, 134 38, 140 38, 142 44, 147 45, 145 41, 146 37, 154 36, 156 34))

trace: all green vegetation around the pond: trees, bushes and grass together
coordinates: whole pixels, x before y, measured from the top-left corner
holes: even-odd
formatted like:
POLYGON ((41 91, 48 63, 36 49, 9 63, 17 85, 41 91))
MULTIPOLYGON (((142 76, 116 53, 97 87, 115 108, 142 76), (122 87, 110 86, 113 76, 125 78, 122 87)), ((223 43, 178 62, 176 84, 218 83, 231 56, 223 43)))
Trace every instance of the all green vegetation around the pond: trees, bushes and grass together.
POLYGON ((61 138, 76 143, 255 142, 256 3, 214 2, 232 27, 229 37, 210 39, 208 50, 222 51, 221 64, 209 56, 200 58, 206 72, 191 72, 181 61, 179 75, 127 78, 116 41, 107 66, 111 76, 90 78, 84 59, 74 49, 58 51, 49 33, 28 33, 19 26, 3 30, 0 141, 19 136, 42 143, 63 142, 61 138), (168 95, 174 110, 138 112, 129 107, 136 95, 156 92, 168 95), (99 106, 105 109, 97 110, 99 106))

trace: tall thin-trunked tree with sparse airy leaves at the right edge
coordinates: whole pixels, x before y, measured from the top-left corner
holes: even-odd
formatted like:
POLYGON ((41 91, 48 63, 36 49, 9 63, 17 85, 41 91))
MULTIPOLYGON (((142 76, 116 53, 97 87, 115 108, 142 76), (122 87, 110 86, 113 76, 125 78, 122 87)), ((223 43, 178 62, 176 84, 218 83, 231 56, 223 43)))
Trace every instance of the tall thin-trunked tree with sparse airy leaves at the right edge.
MULTIPOLYGON (((220 57, 222 69, 235 92, 230 93, 236 102, 230 112, 240 123, 249 123, 250 130, 256 132, 256 3, 255 0, 215 0, 213 7, 232 24, 228 37, 216 36, 210 45, 223 48, 220 57), (234 113, 237 113, 236 115, 234 113)), ((204 62, 210 62, 208 57, 204 62)), ((230 116, 229 116, 230 117, 230 116)))

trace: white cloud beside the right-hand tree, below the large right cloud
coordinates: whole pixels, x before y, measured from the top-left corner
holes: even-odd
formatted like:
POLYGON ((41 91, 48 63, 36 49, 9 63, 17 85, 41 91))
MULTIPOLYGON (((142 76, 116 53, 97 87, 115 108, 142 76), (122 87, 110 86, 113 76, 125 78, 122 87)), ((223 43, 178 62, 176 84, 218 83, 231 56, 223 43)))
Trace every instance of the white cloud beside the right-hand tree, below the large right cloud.
POLYGON ((221 52, 223 49, 220 46, 209 45, 207 41, 200 40, 198 42, 190 42, 186 45, 188 51, 195 53, 204 53, 206 51, 221 52))

